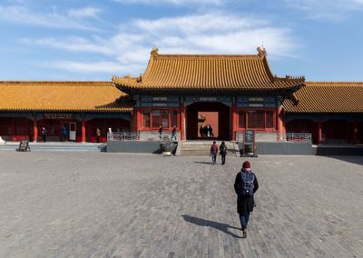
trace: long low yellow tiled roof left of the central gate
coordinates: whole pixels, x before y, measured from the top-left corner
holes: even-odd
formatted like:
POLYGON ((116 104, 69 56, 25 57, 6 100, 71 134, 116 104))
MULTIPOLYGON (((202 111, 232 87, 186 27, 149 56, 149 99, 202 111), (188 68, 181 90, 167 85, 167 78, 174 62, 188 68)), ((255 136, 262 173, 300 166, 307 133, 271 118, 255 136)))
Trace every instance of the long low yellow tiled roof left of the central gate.
POLYGON ((111 82, 0 82, 0 111, 129 112, 111 82))

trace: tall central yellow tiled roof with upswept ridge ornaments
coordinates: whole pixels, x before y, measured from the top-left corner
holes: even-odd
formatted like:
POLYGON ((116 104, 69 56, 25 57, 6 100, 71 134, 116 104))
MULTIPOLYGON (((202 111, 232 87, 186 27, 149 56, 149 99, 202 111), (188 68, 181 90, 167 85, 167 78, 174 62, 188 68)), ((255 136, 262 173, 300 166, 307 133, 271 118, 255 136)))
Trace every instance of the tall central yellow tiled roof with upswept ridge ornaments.
POLYGON ((159 55, 152 50, 149 65, 139 78, 113 76, 124 92, 155 90, 271 91, 299 89, 303 77, 271 74, 266 52, 259 55, 159 55))

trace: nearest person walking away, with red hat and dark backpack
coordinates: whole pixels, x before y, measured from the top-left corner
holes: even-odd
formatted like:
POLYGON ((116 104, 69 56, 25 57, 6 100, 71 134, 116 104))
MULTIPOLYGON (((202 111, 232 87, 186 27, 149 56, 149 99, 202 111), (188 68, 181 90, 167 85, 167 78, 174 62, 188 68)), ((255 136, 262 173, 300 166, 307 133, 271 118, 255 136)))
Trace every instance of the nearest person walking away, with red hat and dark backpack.
POLYGON ((236 175, 234 191, 237 193, 237 212, 240 214, 242 237, 247 237, 247 224, 253 212, 253 194, 259 189, 257 177, 250 169, 250 162, 245 161, 241 171, 236 175))

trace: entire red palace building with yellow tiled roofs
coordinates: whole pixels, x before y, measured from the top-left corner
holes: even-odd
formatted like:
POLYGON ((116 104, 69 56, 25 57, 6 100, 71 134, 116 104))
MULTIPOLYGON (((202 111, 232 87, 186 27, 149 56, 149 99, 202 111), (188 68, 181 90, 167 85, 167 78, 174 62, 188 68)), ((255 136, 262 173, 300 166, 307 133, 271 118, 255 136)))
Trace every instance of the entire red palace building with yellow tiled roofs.
POLYGON ((198 139, 199 114, 217 115, 218 136, 245 130, 309 133, 315 144, 363 143, 363 83, 306 82, 272 74, 258 55, 160 55, 140 77, 111 82, 0 82, 0 136, 8 141, 105 141, 113 131, 172 131, 198 139))

